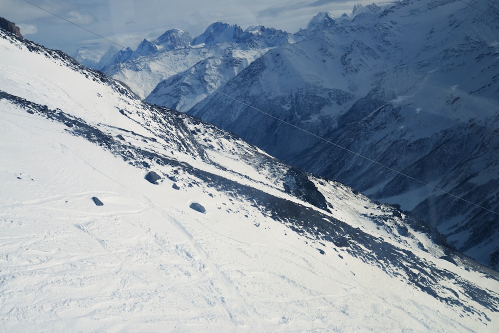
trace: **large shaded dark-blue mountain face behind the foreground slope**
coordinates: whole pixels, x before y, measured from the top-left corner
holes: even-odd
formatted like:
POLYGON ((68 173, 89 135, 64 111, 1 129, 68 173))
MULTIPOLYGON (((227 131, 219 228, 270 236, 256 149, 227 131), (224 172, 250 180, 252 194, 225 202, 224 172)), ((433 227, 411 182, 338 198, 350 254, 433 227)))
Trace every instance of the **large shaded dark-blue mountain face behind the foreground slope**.
POLYGON ((482 6, 492 14, 427 0, 356 6, 348 18, 320 13, 304 40, 269 51, 221 88, 245 104, 212 95, 188 113, 401 204, 499 269, 499 23, 498 8, 482 6))

